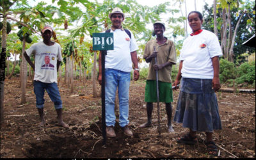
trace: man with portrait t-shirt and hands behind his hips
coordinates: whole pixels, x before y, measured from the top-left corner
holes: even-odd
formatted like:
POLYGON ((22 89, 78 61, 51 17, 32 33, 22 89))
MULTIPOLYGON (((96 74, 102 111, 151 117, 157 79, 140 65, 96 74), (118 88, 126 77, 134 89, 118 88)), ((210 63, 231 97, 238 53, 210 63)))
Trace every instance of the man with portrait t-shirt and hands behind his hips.
POLYGON ((43 42, 31 45, 23 54, 29 65, 35 70, 34 92, 36 95, 36 108, 40 115, 40 127, 45 126, 44 120, 44 92, 47 91, 58 115, 58 124, 68 127, 62 120, 62 101, 57 86, 57 71, 62 61, 61 47, 52 42, 52 28, 45 26, 41 31, 43 42), (30 60, 30 56, 35 55, 35 64, 30 60))

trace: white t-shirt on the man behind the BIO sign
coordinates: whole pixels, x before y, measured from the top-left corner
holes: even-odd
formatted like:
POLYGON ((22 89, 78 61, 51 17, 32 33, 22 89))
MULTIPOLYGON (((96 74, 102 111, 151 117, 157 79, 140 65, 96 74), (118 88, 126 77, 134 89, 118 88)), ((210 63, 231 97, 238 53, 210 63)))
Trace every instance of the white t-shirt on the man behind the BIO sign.
POLYGON ((131 72, 131 52, 139 49, 132 32, 130 31, 131 38, 123 28, 114 29, 114 31, 111 28, 110 32, 114 34, 114 50, 107 51, 105 68, 131 72))

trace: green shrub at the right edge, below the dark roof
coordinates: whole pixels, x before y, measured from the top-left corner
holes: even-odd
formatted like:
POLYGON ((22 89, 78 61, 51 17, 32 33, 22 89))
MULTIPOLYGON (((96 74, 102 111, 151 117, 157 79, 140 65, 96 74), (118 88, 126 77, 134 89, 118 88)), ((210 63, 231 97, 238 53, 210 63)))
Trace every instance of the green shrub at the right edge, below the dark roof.
POLYGON ((237 73, 238 76, 235 80, 237 84, 255 84, 255 61, 241 64, 239 67, 237 67, 237 73))

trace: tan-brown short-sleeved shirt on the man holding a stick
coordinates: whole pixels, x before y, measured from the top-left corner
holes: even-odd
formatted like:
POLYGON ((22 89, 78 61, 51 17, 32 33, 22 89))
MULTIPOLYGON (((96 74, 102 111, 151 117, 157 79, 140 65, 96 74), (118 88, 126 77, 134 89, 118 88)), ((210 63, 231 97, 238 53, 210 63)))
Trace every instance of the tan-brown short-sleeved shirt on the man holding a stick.
MULTIPOLYGON (((156 39, 148 41, 144 50, 143 58, 147 58, 148 56, 150 56, 150 54, 153 53, 154 46, 156 46, 156 50, 158 51, 157 63, 159 65, 166 63, 167 61, 176 64, 176 50, 172 40, 166 40, 166 42, 161 45, 157 44, 156 39)), ((153 58, 148 68, 148 80, 156 80, 156 71, 154 70, 153 67, 155 63, 155 58, 153 58)), ((167 83, 172 83, 171 73, 172 65, 169 65, 167 67, 162 68, 161 70, 158 70, 158 80, 167 83)))

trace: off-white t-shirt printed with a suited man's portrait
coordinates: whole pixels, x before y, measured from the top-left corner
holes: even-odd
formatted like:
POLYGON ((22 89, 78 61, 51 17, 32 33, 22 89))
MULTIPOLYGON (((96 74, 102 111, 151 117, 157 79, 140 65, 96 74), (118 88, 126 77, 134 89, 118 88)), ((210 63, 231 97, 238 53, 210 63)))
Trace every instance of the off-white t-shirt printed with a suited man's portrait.
POLYGON ((62 61, 61 46, 38 42, 26 50, 28 56, 35 54, 35 81, 57 83, 57 60, 62 61), (48 63, 49 62, 49 63, 48 63))

